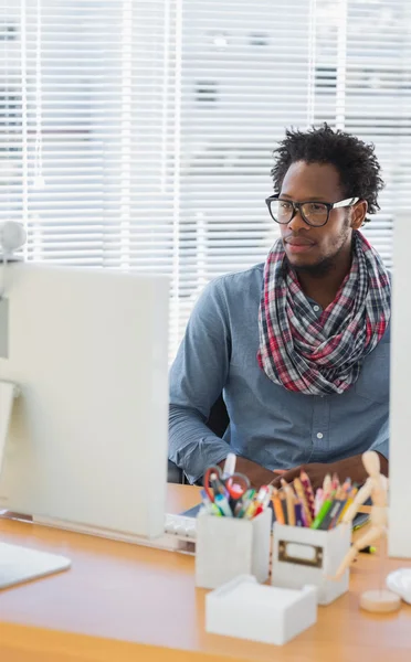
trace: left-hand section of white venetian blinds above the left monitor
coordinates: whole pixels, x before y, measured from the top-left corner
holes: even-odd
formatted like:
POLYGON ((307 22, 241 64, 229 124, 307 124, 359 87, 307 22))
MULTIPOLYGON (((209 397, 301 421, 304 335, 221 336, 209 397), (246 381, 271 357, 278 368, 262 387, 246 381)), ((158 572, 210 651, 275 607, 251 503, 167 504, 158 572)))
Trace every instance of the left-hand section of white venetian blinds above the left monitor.
POLYGON ((0 0, 0 212, 27 223, 29 259, 170 273, 172 3, 0 0))

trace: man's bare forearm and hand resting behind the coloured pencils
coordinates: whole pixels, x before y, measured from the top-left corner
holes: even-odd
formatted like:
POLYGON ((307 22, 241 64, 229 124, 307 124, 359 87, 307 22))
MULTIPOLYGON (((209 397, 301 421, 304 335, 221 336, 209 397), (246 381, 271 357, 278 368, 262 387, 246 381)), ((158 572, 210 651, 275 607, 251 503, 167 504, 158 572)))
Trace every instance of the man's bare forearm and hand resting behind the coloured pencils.
MULTIPOLYGON (((386 471, 388 471, 388 462, 382 456, 380 456, 380 460, 381 473, 386 473, 386 471)), ((368 473, 362 465, 362 456, 357 455, 352 458, 339 460, 338 462, 333 462, 330 465, 324 465, 319 462, 313 465, 302 465, 301 467, 296 467, 295 469, 291 469, 286 473, 278 476, 274 480, 273 485, 275 488, 281 488, 281 479, 284 479, 287 483, 293 482, 295 478, 299 477, 303 470, 308 474, 314 491, 323 487, 324 479, 327 473, 330 473, 330 476, 337 473, 340 483, 342 483, 346 478, 350 478, 352 482, 362 484, 368 478, 368 473)))

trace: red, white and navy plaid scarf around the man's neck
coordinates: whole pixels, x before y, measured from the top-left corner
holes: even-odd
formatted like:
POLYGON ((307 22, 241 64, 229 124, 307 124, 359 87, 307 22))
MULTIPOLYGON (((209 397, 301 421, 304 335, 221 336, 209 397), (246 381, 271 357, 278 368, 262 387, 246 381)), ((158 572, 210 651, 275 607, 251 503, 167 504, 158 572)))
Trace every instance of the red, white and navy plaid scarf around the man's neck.
POLYGON ((344 393, 390 319, 390 279, 378 253, 355 232, 352 264, 333 303, 319 318, 278 239, 264 268, 257 360, 267 377, 306 395, 344 393))

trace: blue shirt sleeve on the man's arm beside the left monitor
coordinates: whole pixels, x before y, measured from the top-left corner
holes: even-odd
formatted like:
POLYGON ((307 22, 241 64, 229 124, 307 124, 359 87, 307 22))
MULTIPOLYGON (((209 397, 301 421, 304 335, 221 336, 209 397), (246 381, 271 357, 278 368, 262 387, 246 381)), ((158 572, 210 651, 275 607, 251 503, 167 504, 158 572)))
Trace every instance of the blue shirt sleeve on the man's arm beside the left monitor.
POLYGON ((228 307, 218 279, 194 306, 170 371, 169 458, 190 482, 230 452, 205 425, 226 382, 230 354, 228 307))

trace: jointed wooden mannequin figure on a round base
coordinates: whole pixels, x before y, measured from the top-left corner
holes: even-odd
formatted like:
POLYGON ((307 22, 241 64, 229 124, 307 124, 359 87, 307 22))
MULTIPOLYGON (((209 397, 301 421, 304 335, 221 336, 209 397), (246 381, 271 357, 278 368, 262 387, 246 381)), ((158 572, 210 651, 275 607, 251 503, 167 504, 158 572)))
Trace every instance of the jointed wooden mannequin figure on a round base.
MULTIPOLYGON (((362 455, 362 463, 369 478, 366 480, 362 488, 358 491, 357 496, 348 508, 341 523, 351 525, 358 509, 367 499, 371 498, 372 508, 370 514, 370 526, 358 537, 351 545, 349 552, 342 559, 335 579, 340 579, 352 563, 357 554, 363 547, 372 545, 387 535, 388 526, 388 479, 380 473, 380 459, 373 450, 369 450, 362 455)), ((382 563, 382 558, 381 558, 382 563)), ((382 576, 382 573, 381 573, 382 576)), ((367 611, 394 611, 400 607, 400 598, 380 586, 377 590, 368 590, 361 595, 360 606, 367 611)))

